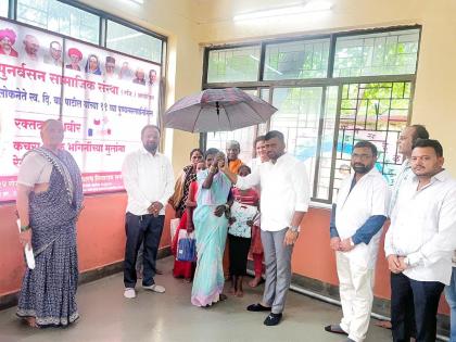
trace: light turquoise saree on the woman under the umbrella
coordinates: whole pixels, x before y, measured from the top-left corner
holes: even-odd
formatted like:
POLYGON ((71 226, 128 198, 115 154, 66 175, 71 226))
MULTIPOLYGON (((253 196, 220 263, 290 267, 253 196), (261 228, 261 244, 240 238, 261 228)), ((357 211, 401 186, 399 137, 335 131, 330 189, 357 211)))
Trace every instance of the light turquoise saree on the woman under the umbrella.
POLYGON ((215 216, 214 211, 217 205, 227 202, 231 182, 225 174, 217 173, 211 188, 202 189, 207 175, 208 170, 198 173, 198 206, 193 212, 198 262, 191 290, 191 303, 195 306, 206 306, 218 302, 225 284, 223 256, 228 219, 225 215, 215 216))

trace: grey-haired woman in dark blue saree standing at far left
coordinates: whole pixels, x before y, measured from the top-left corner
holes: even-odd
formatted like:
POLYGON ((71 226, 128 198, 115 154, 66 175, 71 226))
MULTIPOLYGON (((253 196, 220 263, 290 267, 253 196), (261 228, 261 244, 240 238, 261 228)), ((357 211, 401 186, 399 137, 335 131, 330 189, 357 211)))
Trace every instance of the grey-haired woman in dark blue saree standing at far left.
POLYGON ((31 243, 36 267, 24 275, 17 316, 31 327, 66 326, 76 306, 78 265, 76 220, 83 208, 79 168, 60 150, 63 125, 42 124, 43 145, 27 153, 17 176, 21 242, 31 243))

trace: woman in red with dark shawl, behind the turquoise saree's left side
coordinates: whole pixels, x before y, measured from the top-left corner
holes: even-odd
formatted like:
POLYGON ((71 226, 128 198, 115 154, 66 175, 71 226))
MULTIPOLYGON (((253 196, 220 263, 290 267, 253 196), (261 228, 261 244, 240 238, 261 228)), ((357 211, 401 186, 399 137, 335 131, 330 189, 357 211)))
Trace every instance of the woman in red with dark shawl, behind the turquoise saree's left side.
MULTIPOLYGON (((177 240, 179 237, 180 229, 187 229, 188 223, 191 221, 188 211, 186 211, 187 200, 189 199, 190 185, 197 180, 197 165, 203 160, 203 152, 200 149, 193 149, 190 152, 190 165, 183 167, 180 176, 177 178, 175 191, 173 197, 169 199, 169 203, 176 211, 176 217, 180 218, 179 226, 176 229, 176 233, 173 237, 172 250, 176 254, 177 240)), ((176 278, 183 277, 187 281, 190 281, 193 277, 194 263, 192 262, 174 262, 173 276, 176 278)))

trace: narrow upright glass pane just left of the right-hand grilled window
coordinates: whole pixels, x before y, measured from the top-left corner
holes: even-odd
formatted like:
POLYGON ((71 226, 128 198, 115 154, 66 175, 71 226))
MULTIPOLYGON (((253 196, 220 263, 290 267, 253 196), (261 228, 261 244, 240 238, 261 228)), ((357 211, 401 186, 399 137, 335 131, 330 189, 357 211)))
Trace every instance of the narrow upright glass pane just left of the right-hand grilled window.
POLYGON ((317 193, 315 195, 319 200, 329 200, 330 195, 338 89, 339 87, 328 87, 326 90, 321 147, 319 151, 317 193))

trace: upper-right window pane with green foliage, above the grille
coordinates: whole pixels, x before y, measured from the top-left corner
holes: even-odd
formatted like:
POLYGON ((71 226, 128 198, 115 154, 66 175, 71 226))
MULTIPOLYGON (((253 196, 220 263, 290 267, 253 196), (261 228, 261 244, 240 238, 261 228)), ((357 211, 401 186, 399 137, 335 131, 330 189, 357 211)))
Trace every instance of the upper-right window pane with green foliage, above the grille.
POLYGON ((419 29, 340 37, 334 77, 415 74, 419 29))

